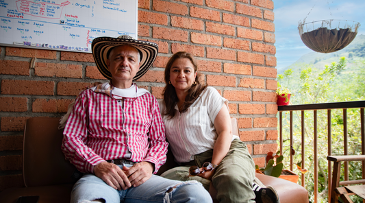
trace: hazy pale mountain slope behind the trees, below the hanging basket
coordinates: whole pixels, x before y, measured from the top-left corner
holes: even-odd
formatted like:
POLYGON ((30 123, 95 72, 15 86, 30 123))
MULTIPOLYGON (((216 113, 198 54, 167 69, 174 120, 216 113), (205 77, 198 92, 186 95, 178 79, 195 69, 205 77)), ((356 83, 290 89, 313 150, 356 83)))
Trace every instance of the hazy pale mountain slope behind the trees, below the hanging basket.
POLYGON ((347 58, 347 67, 352 67, 355 60, 365 57, 365 35, 360 34, 355 37, 355 39, 344 49, 336 51, 333 53, 318 53, 312 51, 303 55, 299 60, 294 62, 288 67, 277 69, 278 74, 284 73, 286 69, 303 69, 307 64, 312 64, 313 67, 317 69, 324 69, 326 64, 331 64, 331 62, 338 62, 340 57, 347 58))

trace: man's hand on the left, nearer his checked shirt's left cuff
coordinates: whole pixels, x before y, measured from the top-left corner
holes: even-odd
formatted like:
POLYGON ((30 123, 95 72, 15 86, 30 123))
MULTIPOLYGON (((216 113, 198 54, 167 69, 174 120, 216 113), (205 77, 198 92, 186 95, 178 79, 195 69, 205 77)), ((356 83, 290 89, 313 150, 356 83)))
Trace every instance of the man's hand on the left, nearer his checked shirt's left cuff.
POLYGON ((125 190, 131 187, 125 171, 113 163, 99 163, 94 167, 94 174, 114 189, 125 190))

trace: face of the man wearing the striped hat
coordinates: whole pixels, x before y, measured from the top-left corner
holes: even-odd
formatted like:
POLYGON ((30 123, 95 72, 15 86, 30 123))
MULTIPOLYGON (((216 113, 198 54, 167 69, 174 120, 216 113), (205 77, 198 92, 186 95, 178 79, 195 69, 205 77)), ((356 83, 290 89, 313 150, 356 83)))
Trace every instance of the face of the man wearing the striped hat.
POLYGON ((115 80, 133 80, 140 69, 138 51, 129 45, 121 45, 112 49, 106 63, 115 80))

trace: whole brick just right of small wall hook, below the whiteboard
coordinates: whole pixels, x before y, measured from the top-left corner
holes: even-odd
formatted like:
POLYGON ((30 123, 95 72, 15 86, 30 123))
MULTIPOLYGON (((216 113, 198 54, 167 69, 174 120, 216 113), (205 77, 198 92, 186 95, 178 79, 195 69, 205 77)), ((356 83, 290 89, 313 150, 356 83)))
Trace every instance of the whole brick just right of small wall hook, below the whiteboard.
POLYGON ((34 73, 44 77, 82 78, 82 65, 37 62, 34 73))

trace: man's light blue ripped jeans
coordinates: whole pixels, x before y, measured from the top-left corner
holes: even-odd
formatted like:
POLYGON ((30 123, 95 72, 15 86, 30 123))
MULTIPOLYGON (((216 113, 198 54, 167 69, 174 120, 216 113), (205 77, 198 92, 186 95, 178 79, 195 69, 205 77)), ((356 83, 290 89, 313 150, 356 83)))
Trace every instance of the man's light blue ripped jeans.
POLYGON ((82 176, 73 186, 71 203, 97 199, 103 199, 105 203, 212 202, 210 194, 197 181, 181 182, 152 175, 138 187, 118 191, 93 174, 82 176))

